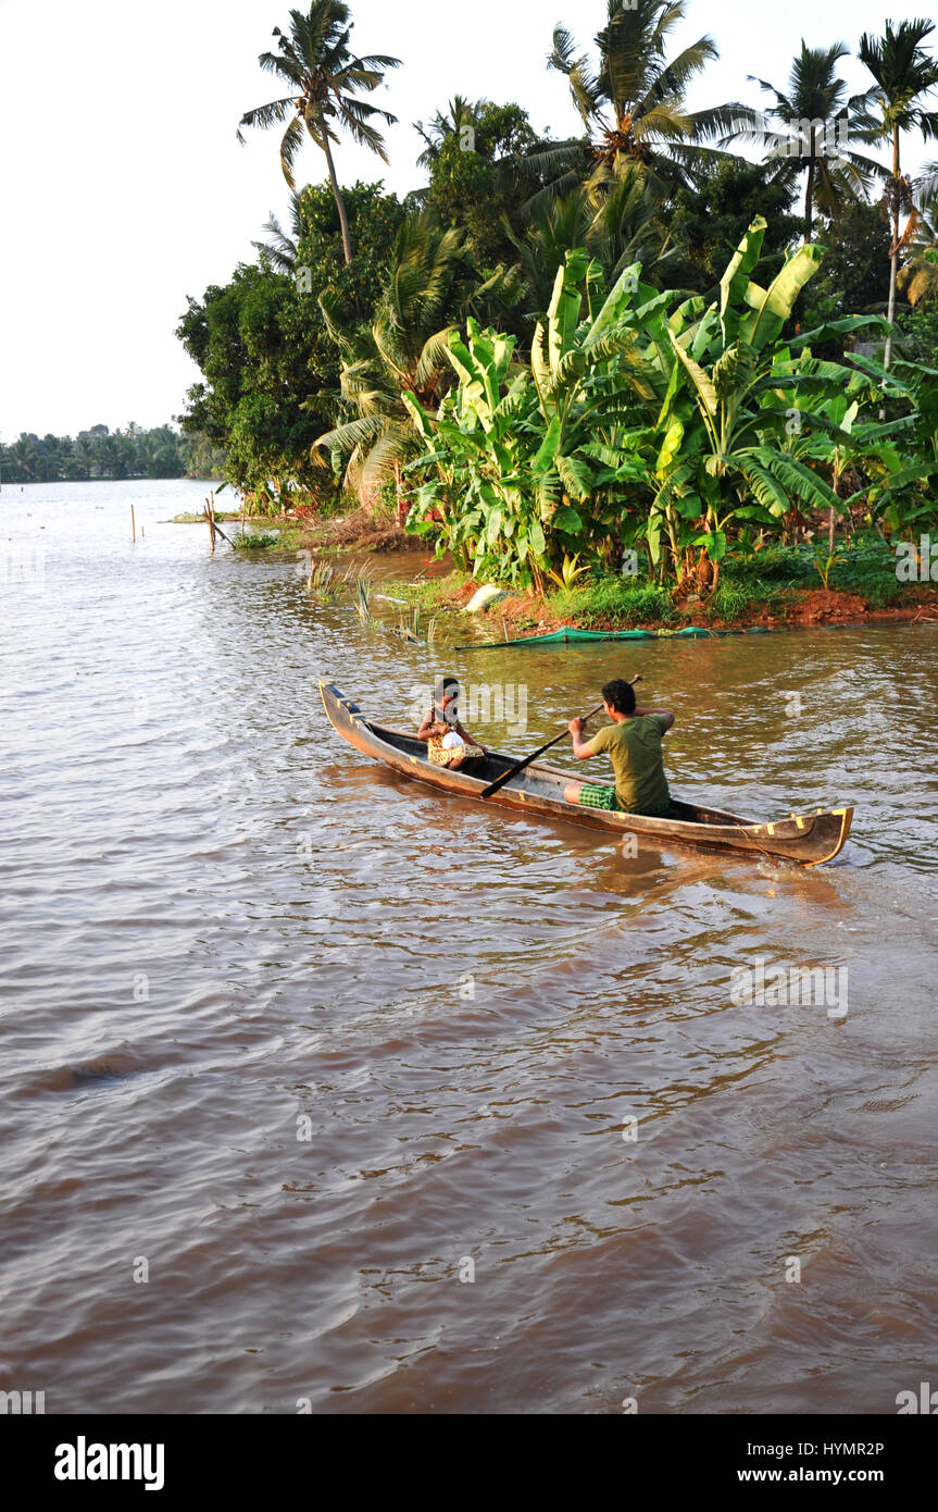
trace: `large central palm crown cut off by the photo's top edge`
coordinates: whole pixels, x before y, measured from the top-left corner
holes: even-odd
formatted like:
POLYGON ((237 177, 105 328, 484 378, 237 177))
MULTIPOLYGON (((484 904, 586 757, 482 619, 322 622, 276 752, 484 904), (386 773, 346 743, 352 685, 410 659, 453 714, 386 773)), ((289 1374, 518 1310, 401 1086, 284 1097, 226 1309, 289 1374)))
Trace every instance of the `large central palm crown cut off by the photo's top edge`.
MULTIPOLYGON (((668 57, 668 35, 684 20, 686 0, 607 0, 607 23, 595 38, 598 60, 577 53, 572 33, 554 29, 548 67, 569 80, 572 103, 591 138, 597 181, 627 163, 662 189, 674 192, 692 181, 693 168, 725 151, 702 147, 701 139, 728 130, 734 104, 687 110, 684 92, 701 70, 719 57, 716 42, 701 36, 675 57, 668 57)), ((560 144, 582 151, 580 142, 560 144)), ((562 153, 553 156, 563 168, 562 153)))

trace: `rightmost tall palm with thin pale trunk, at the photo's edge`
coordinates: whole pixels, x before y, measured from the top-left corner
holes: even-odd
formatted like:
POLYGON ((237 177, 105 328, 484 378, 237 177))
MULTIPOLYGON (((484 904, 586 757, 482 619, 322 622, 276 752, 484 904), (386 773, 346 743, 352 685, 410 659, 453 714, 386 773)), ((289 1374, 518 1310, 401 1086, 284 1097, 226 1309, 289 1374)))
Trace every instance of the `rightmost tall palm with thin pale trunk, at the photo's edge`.
MULTIPOLYGON (((872 103, 865 112, 864 139, 869 142, 891 141, 893 172, 887 183, 887 209, 893 224, 890 248, 890 324, 896 318, 896 284, 899 257, 917 230, 917 212, 912 186, 902 172, 902 133, 920 132, 921 136, 938 139, 938 112, 926 106, 927 95, 938 86, 938 60, 921 45, 935 30, 935 23, 924 18, 914 21, 885 23, 882 36, 859 38, 858 56, 876 80, 870 89, 872 103), (899 216, 906 212, 908 222, 899 234, 899 216)), ((893 337, 887 339, 884 367, 890 366, 893 337)))

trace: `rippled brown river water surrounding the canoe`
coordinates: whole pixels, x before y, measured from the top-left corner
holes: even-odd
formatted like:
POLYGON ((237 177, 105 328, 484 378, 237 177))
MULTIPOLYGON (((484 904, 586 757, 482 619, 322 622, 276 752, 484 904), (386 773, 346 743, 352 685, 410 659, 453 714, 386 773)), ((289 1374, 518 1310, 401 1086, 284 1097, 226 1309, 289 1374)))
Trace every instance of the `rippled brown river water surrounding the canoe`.
POLYGON ((893 1414, 938 1380, 938 626, 441 653, 160 523, 204 493, 0 494, 0 1390, 893 1414), (628 857, 323 718, 319 676, 409 727, 437 671, 524 691, 476 727, 518 754, 640 671, 678 795, 853 836, 628 857), (835 1001, 740 1001, 758 963, 835 1001))

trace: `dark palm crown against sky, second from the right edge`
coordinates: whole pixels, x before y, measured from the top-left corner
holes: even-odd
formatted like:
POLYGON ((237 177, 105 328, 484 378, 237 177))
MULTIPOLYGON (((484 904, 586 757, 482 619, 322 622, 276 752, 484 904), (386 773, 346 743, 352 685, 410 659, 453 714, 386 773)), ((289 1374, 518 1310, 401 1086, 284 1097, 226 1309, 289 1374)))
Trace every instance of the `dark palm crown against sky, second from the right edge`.
POLYGON ((852 130, 865 119, 870 103, 869 91, 847 95, 844 80, 837 76, 840 59, 849 54, 846 42, 808 47, 802 38, 787 91, 749 74, 749 82, 772 97, 769 116, 746 106, 720 139, 720 145, 751 141, 767 148, 773 181, 793 184, 807 175, 805 243, 811 240, 816 210, 837 218, 844 203, 864 198, 870 178, 881 172, 872 157, 849 147, 852 130))

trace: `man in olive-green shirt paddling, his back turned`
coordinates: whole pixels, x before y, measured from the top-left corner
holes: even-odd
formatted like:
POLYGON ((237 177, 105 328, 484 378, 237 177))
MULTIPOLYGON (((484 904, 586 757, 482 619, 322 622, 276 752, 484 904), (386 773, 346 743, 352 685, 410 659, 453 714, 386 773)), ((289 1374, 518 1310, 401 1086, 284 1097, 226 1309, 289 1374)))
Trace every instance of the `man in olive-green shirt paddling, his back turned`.
POLYGON ((634 688, 613 677, 603 688, 603 708, 612 724, 603 726, 591 741, 583 739, 583 720, 571 720, 574 756, 588 761, 607 754, 616 774, 615 788, 591 782, 571 782, 563 789, 568 803, 588 809, 615 809, 622 813, 666 813, 671 792, 662 759, 662 739, 674 724, 666 709, 636 709, 634 688))

